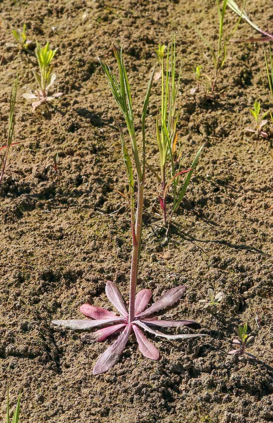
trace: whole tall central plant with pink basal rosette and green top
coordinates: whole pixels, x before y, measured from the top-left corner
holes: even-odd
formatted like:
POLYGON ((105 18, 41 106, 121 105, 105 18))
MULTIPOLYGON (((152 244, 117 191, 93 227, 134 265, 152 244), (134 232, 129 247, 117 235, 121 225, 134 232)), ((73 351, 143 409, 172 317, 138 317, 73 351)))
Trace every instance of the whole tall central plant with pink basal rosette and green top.
MULTIPOLYGON (((132 332, 136 336, 136 341, 139 345, 139 350, 142 354, 152 360, 158 360, 159 351, 151 343, 146 336, 143 334, 142 330, 149 332, 157 337, 166 338, 169 340, 175 339, 187 339, 195 338, 197 336, 205 336, 204 334, 180 334, 180 335, 166 335, 162 332, 155 331, 151 326, 156 327, 177 327, 181 325, 191 325, 198 326, 197 323, 193 321, 174 321, 174 320, 160 320, 157 317, 149 317, 157 311, 169 307, 175 302, 177 302, 184 294, 186 286, 177 286, 170 289, 165 294, 154 302, 150 307, 147 307, 148 302, 152 296, 150 289, 142 289, 136 295, 136 280, 138 275, 139 268, 139 257, 141 251, 141 231, 142 231, 142 209, 143 209, 143 190, 145 182, 145 117, 147 112, 147 106, 150 97, 150 90, 152 87, 153 76, 155 72, 155 67, 153 69, 152 75, 150 77, 150 82, 147 88, 147 93, 145 101, 142 108, 142 165, 140 161, 140 151, 136 143, 136 133, 134 127, 134 117, 132 110, 132 98, 131 98, 131 89, 128 82, 126 69, 123 62, 123 48, 119 51, 114 45, 114 54, 118 63, 119 68, 119 82, 115 78, 109 66, 105 63, 99 63, 102 66, 104 75, 109 84, 109 88, 112 91, 112 94, 120 107, 121 112, 126 120, 128 133, 131 139, 132 146, 132 158, 134 163, 134 168, 137 175, 137 206, 135 211, 135 201, 134 201, 134 172, 132 167, 132 161, 128 154, 125 136, 123 131, 118 126, 121 139, 121 149, 123 154, 123 160, 126 166, 127 175, 128 175, 128 198, 130 201, 130 211, 131 211, 131 233, 132 233, 132 259, 131 259, 131 274, 130 274, 130 289, 129 289, 129 310, 127 310, 123 297, 120 294, 115 283, 107 281, 105 293, 109 301, 114 305, 114 307, 119 311, 120 315, 116 316, 111 311, 108 311, 104 308, 94 307, 90 304, 83 304, 80 307, 80 311, 85 314, 85 316, 90 317, 91 319, 83 320, 54 320, 52 323, 59 326, 68 327, 71 329, 80 329, 86 330, 92 327, 105 326, 103 329, 99 329, 94 332, 92 335, 87 337, 90 341, 103 341, 109 335, 121 332, 117 340, 109 346, 106 351, 98 358, 98 361, 93 368, 93 374, 103 373, 109 368, 111 368, 120 358, 120 355, 123 353, 128 338, 132 332), (146 309, 146 310, 145 310, 146 309)), ((85 338, 84 338, 85 339, 85 338)), ((89 341, 89 342, 90 342, 89 341)))

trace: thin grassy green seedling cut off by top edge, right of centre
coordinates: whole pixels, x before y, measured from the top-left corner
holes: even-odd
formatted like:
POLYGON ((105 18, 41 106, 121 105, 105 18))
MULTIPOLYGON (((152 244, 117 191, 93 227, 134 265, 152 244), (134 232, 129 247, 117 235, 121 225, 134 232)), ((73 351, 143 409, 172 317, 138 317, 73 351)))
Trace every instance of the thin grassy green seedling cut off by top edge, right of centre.
POLYGON ((225 16, 225 13, 226 13, 227 2, 228 2, 228 0, 223 0, 222 10, 221 10, 219 0, 216 0, 217 8, 218 8, 218 17, 219 17, 218 51, 215 51, 213 49, 213 47, 211 46, 211 44, 207 41, 207 39, 199 32, 199 30, 194 25, 192 25, 192 27, 198 33, 199 37, 204 41, 204 43, 210 49, 210 52, 212 54, 213 65, 214 65, 215 71, 214 71, 214 78, 212 80, 212 85, 211 85, 211 90, 210 90, 211 95, 215 91, 216 82, 218 80, 219 74, 220 74, 221 70, 223 69, 224 63, 226 61, 227 43, 230 40, 230 38, 232 37, 232 35, 235 33, 235 31, 236 31, 236 29, 237 29, 237 27, 240 23, 240 20, 241 20, 241 16, 240 16, 239 19, 238 19, 238 22, 236 23, 236 25, 233 28, 233 30, 231 31, 231 33, 229 33, 227 38, 224 38, 223 27, 224 27, 224 16, 225 16))

